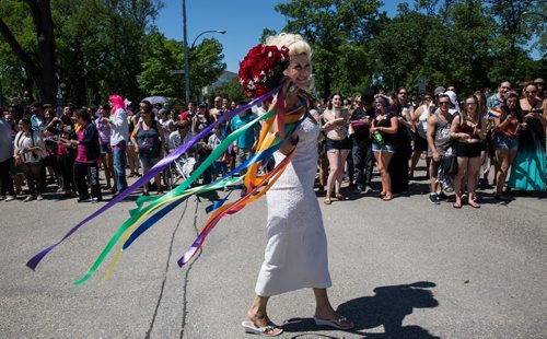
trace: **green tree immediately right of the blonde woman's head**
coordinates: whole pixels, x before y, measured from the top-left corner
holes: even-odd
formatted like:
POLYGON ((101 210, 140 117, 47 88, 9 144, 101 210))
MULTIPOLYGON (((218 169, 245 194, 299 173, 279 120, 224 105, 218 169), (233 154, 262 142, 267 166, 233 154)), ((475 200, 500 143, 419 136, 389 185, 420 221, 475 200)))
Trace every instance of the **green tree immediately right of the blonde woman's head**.
POLYGON ((288 17, 283 31, 299 33, 312 45, 316 90, 321 96, 330 96, 346 86, 354 89, 357 83, 340 84, 370 74, 364 55, 346 45, 365 44, 377 34, 377 22, 385 20, 385 15, 379 14, 380 4, 376 0, 291 0, 276 5, 276 11, 288 17), (346 59, 340 65, 344 50, 359 59, 346 59), (347 68, 356 65, 359 67, 347 68))

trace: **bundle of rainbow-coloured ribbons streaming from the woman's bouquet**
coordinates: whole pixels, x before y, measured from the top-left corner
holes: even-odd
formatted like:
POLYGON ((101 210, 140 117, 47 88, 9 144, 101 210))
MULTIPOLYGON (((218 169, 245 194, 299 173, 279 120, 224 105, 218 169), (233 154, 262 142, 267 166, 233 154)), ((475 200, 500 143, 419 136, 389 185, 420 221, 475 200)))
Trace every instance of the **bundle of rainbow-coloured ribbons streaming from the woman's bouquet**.
POLYGON ((117 232, 114 234, 108 244, 105 246, 98 258, 95 260, 95 262, 88 271, 88 273, 79 281, 74 282, 74 284, 83 283, 93 276, 93 273, 101 266, 101 264, 104 261, 104 259, 113 249, 113 247, 116 245, 116 243, 120 239, 120 237, 123 237, 121 245, 119 246, 104 280, 108 279, 108 277, 112 274, 114 267, 116 266, 116 262, 118 260, 118 257, 123 250, 127 249, 140 235, 142 235, 147 230, 149 230, 164 215, 166 215, 168 212, 175 209, 178 204, 185 201, 188 197, 193 195, 207 192, 210 190, 220 189, 229 185, 235 185, 243 179, 245 182, 245 186, 247 187, 247 194, 233 203, 224 204, 225 201, 228 200, 228 196, 223 200, 213 203, 210 210, 208 210, 208 213, 211 213, 211 217, 209 218, 208 222, 206 223, 206 225, 203 225, 203 227, 199 230, 198 236, 194 242, 194 244, 178 260, 178 265, 181 267, 184 266, 184 264, 186 264, 189 259, 191 259, 191 257, 202 246, 207 235, 220 221, 221 218, 240 211, 247 203, 261 197, 269 189, 269 187, 274 185, 277 178, 279 178, 279 176, 283 173, 284 168, 292 159, 292 152, 291 154, 288 154, 287 157, 281 163, 279 163, 276 166, 276 168, 274 168, 274 171, 271 171, 270 173, 263 176, 257 175, 257 171, 259 168, 264 168, 269 159, 272 156, 274 152, 281 147, 282 141, 284 139, 282 137, 286 136, 287 133, 294 132, 298 126, 301 124, 301 121, 305 118, 305 116, 309 115, 307 106, 305 106, 304 101, 303 101, 303 109, 301 112, 298 112, 296 114, 291 114, 290 116, 286 117, 284 95, 282 93, 281 86, 278 86, 274 91, 266 93, 265 95, 254 100, 252 103, 223 115, 221 118, 219 118, 219 120, 211 124, 208 128, 206 128, 199 135, 194 137, 189 142, 181 145, 173 153, 168 154, 165 159, 160 161, 144 176, 139 178, 133 185, 128 187, 119 196, 115 197, 107 204, 105 204, 104 207, 102 207, 88 218, 85 218, 74 227, 72 227, 58 243, 49 246, 48 248, 42 250, 33 258, 31 258, 26 265, 31 269, 35 270, 40 260, 50 250, 60 245, 63 241, 66 241, 69 236, 71 236, 85 223, 96 218, 97 215, 100 215, 101 213, 113 207, 115 203, 123 200, 130 192, 141 187, 144 183, 149 182, 158 173, 163 171, 171 162, 175 161, 179 155, 182 155, 195 143, 197 143, 205 136, 207 136, 214 128, 214 126, 222 124, 229 118, 251 108, 253 105, 256 105, 257 103, 264 102, 268 97, 271 97, 274 94, 276 94, 276 92, 278 91, 279 93, 277 95, 277 100, 272 103, 271 109, 268 113, 264 114, 260 117, 255 118, 254 120, 249 121, 242 128, 237 129, 236 131, 228 136, 224 139, 224 141, 216 150, 213 150, 211 154, 203 161, 203 163, 190 175, 190 177, 186 179, 184 183, 182 183, 178 187, 174 188, 173 190, 171 190, 170 192, 167 192, 162 197, 144 197, 144 196, 139 197, 139 199, 137 200, 137 208, 129 211, 130 217, 118 227, 117 232), (228 147, 230 147, 230 144, 235 139, 237 139, 248 128, 252 128, 260 120, 266 120, 266 121, 263 126, 263 130, 257 147, 257 152, 254 156, 252 156, 249 160, 240 165, 237 168, 224 175, 214 183, 199 187, 188 188, 199 177, 199 175, 201 175, 212 164, 212 162, 216 159, 222 155, 222 153, 228 149, 228 147), (244 168, 247 168, 246 175, 234 178, 231 177, 232 175, 241 172, 244 168), (144 203, 148 204, 144 206, 144 203), (143 220, 153 212, 155 213, 143 222, 143 220))

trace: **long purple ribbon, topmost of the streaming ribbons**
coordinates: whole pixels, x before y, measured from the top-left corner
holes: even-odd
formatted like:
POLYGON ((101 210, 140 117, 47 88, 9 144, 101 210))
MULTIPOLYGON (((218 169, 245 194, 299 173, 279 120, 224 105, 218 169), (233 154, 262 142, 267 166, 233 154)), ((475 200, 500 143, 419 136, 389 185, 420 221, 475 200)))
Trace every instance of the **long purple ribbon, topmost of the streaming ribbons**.
POLYGON ((93 212, 91 215, 82 220, 80 223, 78 223, 75 226, 73 226, 58 243, 47 247, 46 249, 42 250, 40 253, 36 254, 34 257, 32 257, 27 262, 26 266, 32 269, 36 270, 36 267, 38 264, 44 259, 44 257, 51 252, 54 248, 59 246, 65 239, 67 239, 69 236, 71 236, 75 231, 78 231, 81 226, 93 220, 94 218, 98 217, 109 208, 112 208, 114 204, 118 203, 119 201, 124 200, 127 196, 129 196, 131 192, 133 192, 136 189, 144 185, 146 183, 150 182, 156 174, 161 173, 168 164, 171 164, 173 161, 178 159, 184 152, 186 152, 189 148, 191 148, 194 144, 196 144, 199 140, 203 139, 207 135, 209 135, 217 125, 224 122, 225 120, 232 118, 236 114, 240 114, 246 109, 249 109, 254 105, 264 102, 266 98, 274 96, 279 90, 281 89, 281 85, 278 85, 276 89, 272 91, 255 98, 251 103, 235 108, 226 114, 223 114, 217 121, 212 122, 209 125, 206 129, 203 129, 201 132, 199 132, 196 137, 191 138, 188 142, 179 145, 174 152, 170 153, 167 156, 162 159, 160 162, 158 162, 150 171, 141 176, 135 184, 126 188, 124 191, 121 191, 118 196, 114 197, 108 203, 93 212))

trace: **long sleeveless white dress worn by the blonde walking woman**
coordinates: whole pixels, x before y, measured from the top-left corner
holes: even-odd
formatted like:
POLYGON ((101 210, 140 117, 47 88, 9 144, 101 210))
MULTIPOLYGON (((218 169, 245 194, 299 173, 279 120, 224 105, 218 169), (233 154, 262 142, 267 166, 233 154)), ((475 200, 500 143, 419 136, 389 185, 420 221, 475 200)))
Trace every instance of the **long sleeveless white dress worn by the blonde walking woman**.
MULTIPOLYGON (((319 127, 305 119, 298 133, 291 163, 266 194, 268 244, 255 288, 261 296, 331 285, 327 238, 313 190, 319 127)), ((276 152, 275 159, 279 163, 284 155, 276 152)))

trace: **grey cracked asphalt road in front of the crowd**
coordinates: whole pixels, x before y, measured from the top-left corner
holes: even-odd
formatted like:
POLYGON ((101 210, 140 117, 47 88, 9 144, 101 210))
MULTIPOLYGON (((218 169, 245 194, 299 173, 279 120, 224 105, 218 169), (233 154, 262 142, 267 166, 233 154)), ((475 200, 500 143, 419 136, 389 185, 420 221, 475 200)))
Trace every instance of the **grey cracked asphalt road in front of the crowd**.
MULTIPOLYGON (((318 198, 329 296, 356 328, 314 326, 313 293, 301 290, 270 301, 281 338, 547 338, 547 195, 499 204, 486 190, 481 209, 456 210, 424 190, 419 178, 389 202, 318 198)), ((98 207, 54 197, 0 201, 1 338, 254 338, 241 322, 263 260, 265 199, 224 218, 179 269, 214 195, 191 198, 124 252, 109 280, 101 283, 104 266, 75 287, 135 203, 85 225, 32 271, 28 258, 98 207)))

